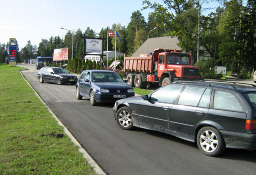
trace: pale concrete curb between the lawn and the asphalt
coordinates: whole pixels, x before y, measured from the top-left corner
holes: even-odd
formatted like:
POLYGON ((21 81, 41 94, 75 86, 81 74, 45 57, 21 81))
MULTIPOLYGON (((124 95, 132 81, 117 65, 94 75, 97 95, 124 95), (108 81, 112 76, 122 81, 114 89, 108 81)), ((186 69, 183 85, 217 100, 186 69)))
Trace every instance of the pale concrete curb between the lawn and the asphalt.
POLYGON ((85 149, 82 148, 82 146, 79 144, 79 142, 75 139, 75 137, 69 132, 69 130, 64 126, 64 124, 62 124, 62 122, 59 120, 59 118, 57 118, 57 116, 52 112, 52 110, 50 110, 50 108, 45 104, 45 102, 43 101, 43 99, 40 97, 40 95, 35 91, 35 89, 31 86, 31 84, 29 84, 29 82, 25 79, 24 75, 22 74, 21 70, 19 71, 23 77, 23 79, 28 83, 28 85, 30 86, 30 88, 33 89, 33 91, 35 92, 36 96, 39 98, 39 100, 47 107, 48 111, 52 114, 52 117, 55 118, 55 120, 57 121, 57 123, 63 127, 64 132, 67 134, 67 136, 71 139, 71 141, 78 146, 78 151, 80 153, 83 154, 83 157, 85 158, 85 160, 90 164, 90 166, 92 166, 93 170, 99 174, 99 175, 106 175, 106 173, 104 173, 104 171, 100 168, 100 166, 93 160, 93 158, 85 151, 85 149))

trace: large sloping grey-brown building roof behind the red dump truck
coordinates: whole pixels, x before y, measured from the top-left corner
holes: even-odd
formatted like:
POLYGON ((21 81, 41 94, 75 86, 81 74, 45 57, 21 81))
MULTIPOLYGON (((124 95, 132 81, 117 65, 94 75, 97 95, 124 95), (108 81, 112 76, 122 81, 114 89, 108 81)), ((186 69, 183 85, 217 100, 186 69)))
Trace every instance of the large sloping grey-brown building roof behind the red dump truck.
POLYGON ((148 46, 150 53, 152 53, 156 48, 182 50, 182 48, 177 45, 178 42, 178 38, 172 38, 171 36, 149 38, 140 46, 140 48, 138 48, 137 51, 135 51, 135 53, 133 53, 133 55, 131 55, 131 57, 139 57, 140 54, 147 53, 148 46))

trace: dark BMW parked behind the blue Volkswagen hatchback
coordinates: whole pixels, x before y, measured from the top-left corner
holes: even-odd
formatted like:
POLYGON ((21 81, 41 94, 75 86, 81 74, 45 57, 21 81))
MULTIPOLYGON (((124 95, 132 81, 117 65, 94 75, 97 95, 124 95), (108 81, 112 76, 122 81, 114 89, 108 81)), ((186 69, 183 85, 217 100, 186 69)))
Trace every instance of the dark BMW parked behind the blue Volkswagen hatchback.
POLYGON ((37 78, 40 83, 47 81, 55 82, 57 85, 64 83, 76 84, 77 82, 76 75, 69 74, 67 70, 60 67, 42 67, 37 73, 37 78))

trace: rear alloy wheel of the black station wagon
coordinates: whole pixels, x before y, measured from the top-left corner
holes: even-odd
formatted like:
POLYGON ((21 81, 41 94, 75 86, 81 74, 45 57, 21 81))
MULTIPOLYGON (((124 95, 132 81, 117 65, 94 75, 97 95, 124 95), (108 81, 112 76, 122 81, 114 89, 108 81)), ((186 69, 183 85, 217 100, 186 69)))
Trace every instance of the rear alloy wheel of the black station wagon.
POLYGON ((218 156, 225 151, 225 142, 220 132, 213 127, 203 127, 197 134, 197 146, 207 156, 218 156))

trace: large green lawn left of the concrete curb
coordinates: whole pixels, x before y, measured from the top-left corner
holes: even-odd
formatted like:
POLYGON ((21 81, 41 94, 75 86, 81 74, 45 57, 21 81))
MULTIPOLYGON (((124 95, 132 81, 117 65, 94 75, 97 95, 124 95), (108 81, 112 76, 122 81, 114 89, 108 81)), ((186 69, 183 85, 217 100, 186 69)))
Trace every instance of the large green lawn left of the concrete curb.
POLYGON ((0 174, 95 174, 19 69, 0 63, 0 174))

